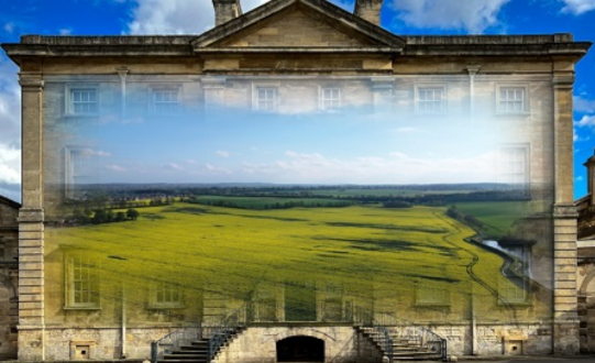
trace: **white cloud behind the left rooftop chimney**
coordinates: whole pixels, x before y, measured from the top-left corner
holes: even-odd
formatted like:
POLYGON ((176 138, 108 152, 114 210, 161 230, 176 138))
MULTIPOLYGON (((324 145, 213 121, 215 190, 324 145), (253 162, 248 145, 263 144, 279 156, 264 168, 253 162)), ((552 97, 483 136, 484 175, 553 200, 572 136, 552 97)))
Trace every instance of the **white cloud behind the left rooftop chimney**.
MULTIPOLYGON (((214 26, 214 10, 207 0, 135 0, 128 34, 198 34, 214 26)), ((267 0, 242 1, 247 12, 267 0)))

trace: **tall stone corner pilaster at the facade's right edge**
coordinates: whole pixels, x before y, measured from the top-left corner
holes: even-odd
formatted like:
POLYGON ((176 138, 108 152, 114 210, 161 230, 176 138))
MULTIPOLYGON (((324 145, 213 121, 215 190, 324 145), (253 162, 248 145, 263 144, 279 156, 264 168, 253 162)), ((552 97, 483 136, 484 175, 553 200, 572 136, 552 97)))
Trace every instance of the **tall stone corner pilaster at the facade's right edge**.
POLYGON ((577 354, 576 208, 573 204, 572 63, 554 63, 553 351, 577 354))

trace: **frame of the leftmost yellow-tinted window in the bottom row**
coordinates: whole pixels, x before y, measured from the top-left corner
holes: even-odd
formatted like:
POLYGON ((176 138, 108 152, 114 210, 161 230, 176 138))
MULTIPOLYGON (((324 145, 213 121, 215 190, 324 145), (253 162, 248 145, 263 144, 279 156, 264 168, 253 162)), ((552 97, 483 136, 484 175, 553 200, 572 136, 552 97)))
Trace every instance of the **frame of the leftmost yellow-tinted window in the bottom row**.
MULTIPOLYGON (((65 253, 64 256, 64 309, 79 309, 79 310, 99 310, 101 309, 101 268, 97 258, 92 256, 82 255, 81 253, 65 253), (85 262, 82 261, 85 260, 85 262), (79 293, 85 293, 87 301, 76 301, 77 294, 77 279, 76 279, 76 266, 79 268, 85 264, 85 271, 80 272, 85 274, 89 280, 80 280, 80 285, 88 284, 88 288, 80 289, 79 293)), ((81 277, 82 278, 82 277, 81 277)))

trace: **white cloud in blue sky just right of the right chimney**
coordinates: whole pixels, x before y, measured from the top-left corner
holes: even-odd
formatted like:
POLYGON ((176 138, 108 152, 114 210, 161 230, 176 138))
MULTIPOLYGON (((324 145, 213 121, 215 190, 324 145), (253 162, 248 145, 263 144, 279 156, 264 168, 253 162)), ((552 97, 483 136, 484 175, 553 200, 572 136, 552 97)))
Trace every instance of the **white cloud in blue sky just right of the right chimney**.
MULTIPOLYGON (((407 25, 482 33, 500 25, 498 13, 510 0, 392 0, 407 25)), ((568 1, 568 0, 566 0, 568 1)))

